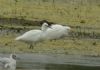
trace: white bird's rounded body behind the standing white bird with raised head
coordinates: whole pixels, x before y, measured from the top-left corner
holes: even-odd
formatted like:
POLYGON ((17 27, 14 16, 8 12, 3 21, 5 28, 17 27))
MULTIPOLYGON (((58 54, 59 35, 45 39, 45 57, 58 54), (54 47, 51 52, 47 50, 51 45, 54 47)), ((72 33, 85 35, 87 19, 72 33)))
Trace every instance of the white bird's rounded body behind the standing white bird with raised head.
POLYGON ((68 35, 68 32, 70 31, 70 27, 68 26, 62 26, 59 24, 51 25, 51 28, 48 28, 45 33, 44 37, 47 40, 53 40, 53 39, 59 39, 63 36, 68 35))

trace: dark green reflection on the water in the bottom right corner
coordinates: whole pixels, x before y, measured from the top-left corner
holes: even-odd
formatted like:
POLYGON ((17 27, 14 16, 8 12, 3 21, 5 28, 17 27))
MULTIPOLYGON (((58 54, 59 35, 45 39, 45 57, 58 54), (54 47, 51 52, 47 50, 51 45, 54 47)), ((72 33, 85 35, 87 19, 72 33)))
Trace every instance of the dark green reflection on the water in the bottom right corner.
POLYGON ((54 65, 49 64, 46 66, 46 70, 98 70, 100 67, 86 67, 75 65, 54 65))

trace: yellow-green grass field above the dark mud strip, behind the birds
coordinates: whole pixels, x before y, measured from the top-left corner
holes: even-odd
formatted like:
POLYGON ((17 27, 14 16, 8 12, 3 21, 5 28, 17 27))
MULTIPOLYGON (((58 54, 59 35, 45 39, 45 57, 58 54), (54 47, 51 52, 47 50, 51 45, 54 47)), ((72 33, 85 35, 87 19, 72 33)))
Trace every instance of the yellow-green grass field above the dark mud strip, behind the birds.
POLYGON ((97 4, 68 4, 34 1, 0 0, 0 15, 31 20, 47 19, 60 24, 100 26, 100 6, 97 4))

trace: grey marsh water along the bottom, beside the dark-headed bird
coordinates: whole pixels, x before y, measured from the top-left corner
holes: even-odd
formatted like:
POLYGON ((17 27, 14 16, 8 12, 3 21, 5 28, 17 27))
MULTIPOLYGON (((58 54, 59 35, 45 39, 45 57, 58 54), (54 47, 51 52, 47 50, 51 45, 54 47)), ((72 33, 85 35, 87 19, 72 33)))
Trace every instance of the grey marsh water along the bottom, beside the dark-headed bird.
MULTIPOLYGON (((63 54, 16 54, 16 70, 99 70, 100 57, 63 54)), ((9 57, 0 54, 0 57, 9 57)))

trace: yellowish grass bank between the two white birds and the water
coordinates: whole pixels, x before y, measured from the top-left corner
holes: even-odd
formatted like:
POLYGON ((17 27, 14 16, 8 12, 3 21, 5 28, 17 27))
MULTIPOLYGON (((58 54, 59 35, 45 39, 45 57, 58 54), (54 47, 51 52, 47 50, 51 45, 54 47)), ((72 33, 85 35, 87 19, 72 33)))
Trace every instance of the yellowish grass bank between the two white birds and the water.
POLYGON ((71 39, 65 38, 53 41, 44 41, 34 45, 34 49, 28 49, 29 45, 14 41, 15 36, 0 36, 0 52, 2 53, 56 53, 100 55, 100 40, 96 39, 71 39))

